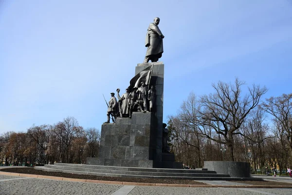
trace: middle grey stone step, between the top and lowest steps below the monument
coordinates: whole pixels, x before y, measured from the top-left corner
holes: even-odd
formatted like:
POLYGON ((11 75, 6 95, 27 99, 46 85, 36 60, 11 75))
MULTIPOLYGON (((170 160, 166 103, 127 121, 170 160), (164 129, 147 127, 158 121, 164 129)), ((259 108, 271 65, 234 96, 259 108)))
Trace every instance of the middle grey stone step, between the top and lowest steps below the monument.
MULTIPOLYGON (((78 166, 57 166, 57 165, 45 165, 46 168, 66 171, 78 171, 89 173, 102 173, 102 174, 118 174, 118 175, 136 175, 136 176, 175 176, 175 177, 229 177, 226 174, 216 174, 208 171, 197 171, 196 173, 169 173, 169 172, 150 172, 150 171, 130 171, 130 170, 114 170, 114 169, 92 169, 83 168, 78 166)), ((104 167, 105 168, 105 167, 104 167)))

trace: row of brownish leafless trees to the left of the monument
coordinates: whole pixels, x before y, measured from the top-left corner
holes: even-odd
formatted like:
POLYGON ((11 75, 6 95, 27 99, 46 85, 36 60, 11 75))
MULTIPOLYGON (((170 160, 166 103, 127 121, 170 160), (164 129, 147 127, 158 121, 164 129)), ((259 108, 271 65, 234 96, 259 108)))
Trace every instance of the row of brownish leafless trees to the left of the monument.
POLYGON ((32 126, 26 133, 0 136, 0 159, 5 165, 84 163, 98 155, 100 132, 83 129, 74 117, 54 125, 32 126))

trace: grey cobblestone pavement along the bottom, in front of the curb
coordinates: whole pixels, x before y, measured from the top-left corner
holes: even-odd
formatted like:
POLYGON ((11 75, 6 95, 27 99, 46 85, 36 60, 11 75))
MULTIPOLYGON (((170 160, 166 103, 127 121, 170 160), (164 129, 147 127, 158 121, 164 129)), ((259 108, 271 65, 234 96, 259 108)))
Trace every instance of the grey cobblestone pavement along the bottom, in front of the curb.
POLYGON ((0 195, 290 195, 291 192, 292 189, 124 186, 0 175, 0 195))

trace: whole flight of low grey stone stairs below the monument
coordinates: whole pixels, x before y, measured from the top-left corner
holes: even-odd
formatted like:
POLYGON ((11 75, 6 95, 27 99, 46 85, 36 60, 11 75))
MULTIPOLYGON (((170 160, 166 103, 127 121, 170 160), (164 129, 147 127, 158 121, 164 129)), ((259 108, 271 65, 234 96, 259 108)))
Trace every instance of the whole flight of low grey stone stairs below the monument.
MULTIPOLYGON (((133 178, 163 178, 163 179, 189 179, 189 180, 243 180, 244 178, 230 177, 227 174, 217 174, 207 169, 159 169, 138 167, 115 167, 86 164, 55 163, 35 167, 37 170, 62 172, 81 175, 133 177, 133 178)), ((251 178, 245 178, 252 180, 251 178)))

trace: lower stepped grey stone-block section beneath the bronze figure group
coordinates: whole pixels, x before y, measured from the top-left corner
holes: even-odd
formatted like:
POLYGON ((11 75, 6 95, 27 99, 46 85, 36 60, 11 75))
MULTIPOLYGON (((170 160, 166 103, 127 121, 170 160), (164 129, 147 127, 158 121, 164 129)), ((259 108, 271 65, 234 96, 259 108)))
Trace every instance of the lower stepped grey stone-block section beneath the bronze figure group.
POLYGON ((134 112, 132 118, 117 118, 104 123, 98 158, 87 158, 87 164, 123 167, 153 167, 153 132, 155 116, 134 112))

